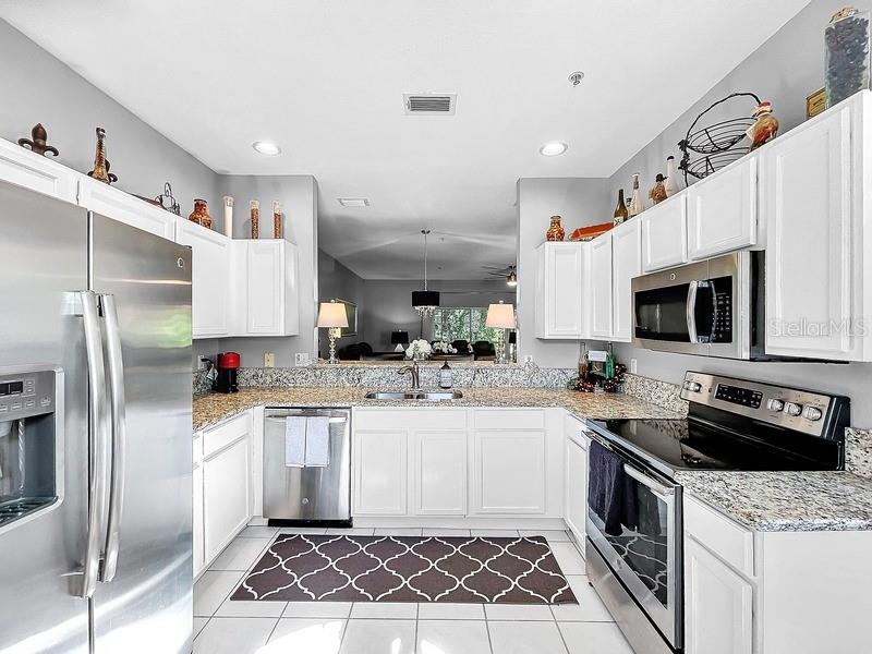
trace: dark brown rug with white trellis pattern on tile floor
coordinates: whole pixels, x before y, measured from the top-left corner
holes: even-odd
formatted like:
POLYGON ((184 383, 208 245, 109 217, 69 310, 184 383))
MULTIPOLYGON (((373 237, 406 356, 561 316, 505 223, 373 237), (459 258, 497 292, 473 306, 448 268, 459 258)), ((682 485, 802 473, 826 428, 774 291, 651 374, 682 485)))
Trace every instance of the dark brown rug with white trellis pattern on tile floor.
POLYGON ((576 603, 542 536, 280 534, 231 600, 576 603))

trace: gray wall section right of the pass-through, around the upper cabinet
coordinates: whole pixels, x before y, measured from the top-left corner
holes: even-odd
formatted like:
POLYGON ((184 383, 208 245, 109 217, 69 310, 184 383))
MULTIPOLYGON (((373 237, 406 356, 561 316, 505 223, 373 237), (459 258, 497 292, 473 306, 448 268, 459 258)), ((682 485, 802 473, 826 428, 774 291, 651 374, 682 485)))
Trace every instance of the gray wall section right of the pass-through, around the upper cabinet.
POLYGON ((608 181, 580 178, 518 180, 518 361, 543 367, 572 367, 578 341, 535 338, 536 247, 545 242, 552 216, 562 216, 566 237, 577 227, 611 219, 608 181))

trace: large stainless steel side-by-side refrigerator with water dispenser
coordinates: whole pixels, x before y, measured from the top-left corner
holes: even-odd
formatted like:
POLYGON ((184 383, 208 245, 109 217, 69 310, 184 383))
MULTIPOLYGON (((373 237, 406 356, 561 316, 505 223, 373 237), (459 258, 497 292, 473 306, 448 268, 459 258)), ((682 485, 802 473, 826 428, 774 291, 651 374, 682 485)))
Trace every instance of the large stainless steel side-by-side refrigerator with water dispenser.
POLYGON ((0 184, 0 653, 190 652, 190 250, 0 184))

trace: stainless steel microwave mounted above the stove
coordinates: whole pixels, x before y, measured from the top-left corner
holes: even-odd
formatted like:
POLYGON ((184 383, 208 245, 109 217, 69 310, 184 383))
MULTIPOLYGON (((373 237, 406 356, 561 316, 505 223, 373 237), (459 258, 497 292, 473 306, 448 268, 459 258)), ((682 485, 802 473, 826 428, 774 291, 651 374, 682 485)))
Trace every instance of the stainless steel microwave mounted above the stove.
POLYGON ((637 277, 633 344, 726 359, 763 359, 762 252, 736 252, 637 277))

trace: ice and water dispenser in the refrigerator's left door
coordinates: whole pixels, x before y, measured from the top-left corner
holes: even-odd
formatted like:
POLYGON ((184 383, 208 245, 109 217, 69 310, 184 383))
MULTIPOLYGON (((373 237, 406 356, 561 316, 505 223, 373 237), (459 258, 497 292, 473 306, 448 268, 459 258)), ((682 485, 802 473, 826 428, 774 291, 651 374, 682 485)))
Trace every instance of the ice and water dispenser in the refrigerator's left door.
POLYGON ((60 498, 62 380, 53 368, 0 368, 0 531, 60 498))

